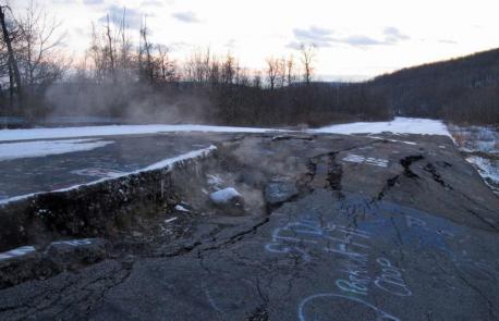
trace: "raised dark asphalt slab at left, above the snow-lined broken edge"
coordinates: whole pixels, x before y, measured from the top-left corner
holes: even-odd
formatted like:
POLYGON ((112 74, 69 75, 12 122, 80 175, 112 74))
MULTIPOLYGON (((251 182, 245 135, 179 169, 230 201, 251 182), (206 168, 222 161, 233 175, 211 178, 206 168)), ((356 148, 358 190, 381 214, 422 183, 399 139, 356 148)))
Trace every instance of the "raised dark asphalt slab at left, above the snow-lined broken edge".
POLYGON ((195 134, 106 136, 96 139, 112 144, 89 151, 0 161, 0 200, 130 173, 206 148, 211 141, 217 141, 215 137, 211 135, 207 139, 195 134))

